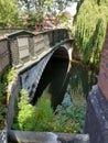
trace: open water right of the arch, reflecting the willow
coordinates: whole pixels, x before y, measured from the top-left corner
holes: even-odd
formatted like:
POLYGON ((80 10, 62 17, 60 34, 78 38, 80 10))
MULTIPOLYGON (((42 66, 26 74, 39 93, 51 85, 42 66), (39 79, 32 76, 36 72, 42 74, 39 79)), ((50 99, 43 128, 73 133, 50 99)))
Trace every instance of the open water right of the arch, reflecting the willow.
POLYGON ((97 70, 82 64, 72 63, 68 87, 75 98, 87 98, 93 85, 97 84, 97 70))

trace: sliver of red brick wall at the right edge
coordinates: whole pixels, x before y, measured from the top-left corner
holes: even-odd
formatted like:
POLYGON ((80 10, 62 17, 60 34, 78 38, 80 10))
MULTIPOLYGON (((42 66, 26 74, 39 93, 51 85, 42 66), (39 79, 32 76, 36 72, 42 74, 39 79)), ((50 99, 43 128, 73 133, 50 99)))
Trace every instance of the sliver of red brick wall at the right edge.
POLYGON ((104 51, 101 56, 101 64, 98 77, 98 86, 101 89, 104 96, 108 100, 108 26, 106 30, 106 37, 104 44, 104 51))

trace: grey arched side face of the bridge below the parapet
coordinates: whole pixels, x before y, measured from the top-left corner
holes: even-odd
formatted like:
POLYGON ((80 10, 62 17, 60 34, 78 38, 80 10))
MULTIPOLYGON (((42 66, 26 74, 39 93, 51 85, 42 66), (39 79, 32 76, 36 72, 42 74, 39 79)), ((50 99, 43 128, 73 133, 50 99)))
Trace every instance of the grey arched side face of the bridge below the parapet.
POLYGON ((37 85, 42 77, 42 74, 50 62, 51 58, 60 58, 60 61, 68 61, 69 54, 66 45, 58 46, 51 51, 46 56, 40 59, 39 63, 28 68, 24 73, 20 75, 22 88, 28 90, 30 100, 32 101, 34 94, 36 91, 37 85))

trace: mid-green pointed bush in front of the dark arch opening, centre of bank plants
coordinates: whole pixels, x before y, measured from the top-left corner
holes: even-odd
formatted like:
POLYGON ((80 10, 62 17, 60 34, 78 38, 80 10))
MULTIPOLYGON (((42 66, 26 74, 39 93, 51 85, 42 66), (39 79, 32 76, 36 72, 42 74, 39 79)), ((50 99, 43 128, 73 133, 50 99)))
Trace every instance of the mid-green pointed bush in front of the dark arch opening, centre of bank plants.
POLYGON ((35 131, 52 131, 52 120, 54 118, 53 109, 51 108, 51 100, 42 96, 35 106, 35 131))

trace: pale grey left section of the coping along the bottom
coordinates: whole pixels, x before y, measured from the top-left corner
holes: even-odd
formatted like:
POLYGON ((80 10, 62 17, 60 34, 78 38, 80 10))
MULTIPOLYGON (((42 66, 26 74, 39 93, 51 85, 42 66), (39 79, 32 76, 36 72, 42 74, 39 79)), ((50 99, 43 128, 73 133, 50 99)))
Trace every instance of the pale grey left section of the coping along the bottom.
POLYGON ((57 143, 57 135, 52 132, 9 131, 9 141, 21 143, 57 143))

